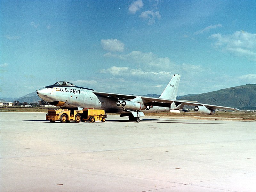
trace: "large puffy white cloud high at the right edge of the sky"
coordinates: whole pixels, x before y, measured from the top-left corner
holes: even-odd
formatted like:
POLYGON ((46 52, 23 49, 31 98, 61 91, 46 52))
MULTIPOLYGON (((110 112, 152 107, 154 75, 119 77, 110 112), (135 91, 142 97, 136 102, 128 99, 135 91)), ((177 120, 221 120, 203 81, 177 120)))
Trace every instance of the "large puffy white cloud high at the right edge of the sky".
POLYGON ((248 60, 256 61, 256 34, 246 31, 236 31, 232 35, 213 34, 216 39, 215 48, 228 52, 236 57, 245 57, 248 60))

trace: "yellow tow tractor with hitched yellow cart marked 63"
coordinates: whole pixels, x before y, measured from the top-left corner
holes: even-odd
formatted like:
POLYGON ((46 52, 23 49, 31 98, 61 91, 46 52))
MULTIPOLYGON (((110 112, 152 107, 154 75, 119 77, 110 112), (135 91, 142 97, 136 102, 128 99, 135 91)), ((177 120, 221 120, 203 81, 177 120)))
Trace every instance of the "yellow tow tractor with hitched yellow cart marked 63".
POLYGON ((94 123, 95 121, 105 122, 107 115, 105 110, 101 109, 83 109, 83 110, 68 110, 68 109, 49 109, 46 114, 46 120, 54 123, 55 121, 60 121, 61 123, 68 123, 70 121, 75 121, 79 123, 80 121, 90 121, 94 123))

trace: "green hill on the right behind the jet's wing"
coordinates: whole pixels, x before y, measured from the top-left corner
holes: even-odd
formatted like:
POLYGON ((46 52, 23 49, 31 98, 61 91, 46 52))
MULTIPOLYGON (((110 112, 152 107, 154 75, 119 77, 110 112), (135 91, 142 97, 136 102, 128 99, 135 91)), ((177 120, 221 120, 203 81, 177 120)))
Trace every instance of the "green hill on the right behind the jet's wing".
POLYGON ((235 107, 243 110, 255 110, 256 84, 247 84, 198 95, 183 96, 179 99, 195 100, 200 103, 235 107))

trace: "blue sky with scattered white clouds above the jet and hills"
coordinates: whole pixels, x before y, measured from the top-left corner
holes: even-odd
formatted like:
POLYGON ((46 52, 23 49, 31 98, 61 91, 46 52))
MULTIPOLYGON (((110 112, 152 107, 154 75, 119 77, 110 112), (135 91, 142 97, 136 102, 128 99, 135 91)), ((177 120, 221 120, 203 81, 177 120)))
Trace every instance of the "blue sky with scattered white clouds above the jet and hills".
POLYGON ((256 1, 0 2, 0 98, 57 81, 178 95, 256 83, 256 1))

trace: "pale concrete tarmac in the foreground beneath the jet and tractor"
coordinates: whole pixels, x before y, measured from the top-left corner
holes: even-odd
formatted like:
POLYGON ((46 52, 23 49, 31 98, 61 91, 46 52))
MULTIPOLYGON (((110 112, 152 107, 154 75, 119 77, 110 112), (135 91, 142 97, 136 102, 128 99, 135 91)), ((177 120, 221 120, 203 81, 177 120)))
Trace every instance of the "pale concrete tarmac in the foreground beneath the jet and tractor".
POLYGON ((0 191, 256 191, 255 122, 127 119, 1 112, 0 191))

